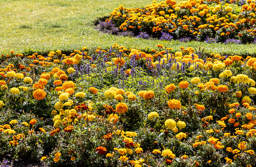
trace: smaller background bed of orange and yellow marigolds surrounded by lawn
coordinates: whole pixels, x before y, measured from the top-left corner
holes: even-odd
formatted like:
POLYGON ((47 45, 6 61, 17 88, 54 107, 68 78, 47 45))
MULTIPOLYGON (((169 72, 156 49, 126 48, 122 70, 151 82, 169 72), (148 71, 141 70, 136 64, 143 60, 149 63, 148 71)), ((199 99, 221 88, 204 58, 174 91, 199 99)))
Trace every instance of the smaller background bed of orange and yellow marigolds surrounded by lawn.
POLYGON ((110 13, 105 24, 114 24, 121 31, 133 32, 133 35, 147 33, 159 39, 168 33, 174 39, 189 37, 207 41, 213 37, 223 43, 232 40, 253 43, 256 39, 255 13, 255 3, 251 0, 222 3, 189 0, 178 4, 166 0, 161 3, 153 1, 144 8, 129 9, 120 5, 110 13))

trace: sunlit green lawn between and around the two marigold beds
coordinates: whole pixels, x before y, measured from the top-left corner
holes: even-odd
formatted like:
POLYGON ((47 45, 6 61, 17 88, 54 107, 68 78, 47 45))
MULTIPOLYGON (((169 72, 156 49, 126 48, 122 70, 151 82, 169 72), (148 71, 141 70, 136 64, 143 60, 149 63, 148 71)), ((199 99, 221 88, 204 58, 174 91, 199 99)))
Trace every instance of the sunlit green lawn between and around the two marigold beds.
POLYGON ((151 0, 1 0, 0 53, 48 53, 60 49, 71 52, 86 46, 109 48, 113 43, 127 48, 148 51, 163 44, 178 50, 184 47, 202 47, 208 53, 254 55, 255 45, 207 44, 204 42, 143 40, 110 35, 94 29, 93 21, 119 5, 128 8, 143 7, 151 0))

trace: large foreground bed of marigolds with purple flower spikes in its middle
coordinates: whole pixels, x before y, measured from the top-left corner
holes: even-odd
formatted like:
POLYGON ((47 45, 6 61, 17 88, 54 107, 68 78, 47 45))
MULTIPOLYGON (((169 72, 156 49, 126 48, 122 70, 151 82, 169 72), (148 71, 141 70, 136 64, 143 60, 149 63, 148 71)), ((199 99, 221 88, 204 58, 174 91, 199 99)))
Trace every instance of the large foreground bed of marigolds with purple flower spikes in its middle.
POLYGON ((255 57, 157 45, 2 55, 0 157, 255 166, 255 57))

